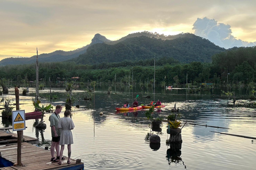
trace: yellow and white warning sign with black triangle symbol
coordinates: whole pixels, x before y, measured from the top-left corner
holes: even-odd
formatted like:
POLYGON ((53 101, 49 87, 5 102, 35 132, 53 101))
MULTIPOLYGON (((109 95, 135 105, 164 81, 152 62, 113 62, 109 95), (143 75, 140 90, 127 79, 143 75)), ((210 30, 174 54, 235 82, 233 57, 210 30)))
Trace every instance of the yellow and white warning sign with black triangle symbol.
POLYGON ((26 123, 25 123, 25 110, 21 111, 12 111, 12 130, 25 130, 26 123))

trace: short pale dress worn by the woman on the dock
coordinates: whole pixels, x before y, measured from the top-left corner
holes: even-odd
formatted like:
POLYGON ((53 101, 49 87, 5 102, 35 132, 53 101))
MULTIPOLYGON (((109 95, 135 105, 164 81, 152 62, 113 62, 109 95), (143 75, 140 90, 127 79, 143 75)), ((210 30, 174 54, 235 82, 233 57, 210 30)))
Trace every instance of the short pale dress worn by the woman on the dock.
POLYGON ((60 133, 60 145, 73 144, 73 135, 71 129, 75 128, 73 120, 70 117, 60 118, 58 128, 61 129, 60 133))

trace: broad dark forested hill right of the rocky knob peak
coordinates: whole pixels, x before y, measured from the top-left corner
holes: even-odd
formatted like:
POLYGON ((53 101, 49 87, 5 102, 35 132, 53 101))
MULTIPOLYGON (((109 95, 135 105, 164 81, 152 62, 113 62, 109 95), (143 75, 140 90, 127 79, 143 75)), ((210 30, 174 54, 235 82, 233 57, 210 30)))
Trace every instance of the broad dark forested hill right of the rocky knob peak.
MULTIPOLYGON (((178 36, 177 36, 178 37, 178 36)), ((74 58, 78 64, 100 64, 147 60, 149 58, 173 58, 181 63, 212 61, 211 56, 226 49, 211 41, 191 33, 172 40, 162 40, 146 36, 127 38, 117 44, 95 44, 87 48, 85 54, 74 58)))

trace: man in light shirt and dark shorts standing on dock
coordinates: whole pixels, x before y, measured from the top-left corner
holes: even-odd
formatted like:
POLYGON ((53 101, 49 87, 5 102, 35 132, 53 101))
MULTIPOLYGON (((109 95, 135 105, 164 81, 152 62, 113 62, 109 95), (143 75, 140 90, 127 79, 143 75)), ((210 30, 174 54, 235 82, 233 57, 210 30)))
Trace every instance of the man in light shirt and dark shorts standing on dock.
POLYGON ((60 129, 58 128, 58 123, 60 120, 59 113, 61 112, 62 107, 57 105, 55 108, 55 112, 52 113, 49 117, 51 132, 52 132, 52 145, 51 145, 51 161, 58 162, 60 158, 60 129), (54 150, 56 149, 57 158, 54 157, 54 150))

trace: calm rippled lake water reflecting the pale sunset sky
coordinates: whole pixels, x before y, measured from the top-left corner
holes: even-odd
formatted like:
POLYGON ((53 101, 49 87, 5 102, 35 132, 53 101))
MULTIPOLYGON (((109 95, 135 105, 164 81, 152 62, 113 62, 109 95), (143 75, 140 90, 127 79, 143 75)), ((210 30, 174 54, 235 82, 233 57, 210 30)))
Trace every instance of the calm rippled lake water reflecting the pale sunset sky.
MULTIPOLYGON (((21 91, 22 89, 20 89, 21 91)), ((2 98, 15 98, 14 90, 2 98)), ((22 91, 20 92, 20 94, 22 91)), ((63 105, 68 92, 65 89, 53 88, 53 95, 58 99, 52 101, 55 106, 63 105)), ((42 104, 50 103, 50 90, 39 90, 42 104)), ((237 93, 238 94, 238 93, 237 93)), ((26 112, 34 110, 32 100, 35 89, 30 89, 28 96, 20 96, 20 109, 26 112)), ((82 90, 73 90, 75 104, 73 107, 74 144, 71 146, 74 159, 82 159, 85 169, 254 169, 256 162, 256 140, 235 137, 214 132, 256 137, 256 115, 253 101, 246 95, 236 96, 236 105, 227 105, 227 99, 213 91, 201 95, 186 94, 186 90, 156 90, 148 94, 140 90, 115 89, 110 95, 104 89, 98 88, 95 94, 86 94, 82 90), (139 91, 139 92, 138 92, 139 91), (163 117, 171 113, 176 104, 179 107, 178 119, 182 125, 181 150, 170 151, 166 145, 170 135, 166 133, 166 122, 163 122, 162 132, 149 128, 150 122, 145 120, 146 111, 117 113, 115 107, 120 107, 139 95, 140 104, 148 104, 150 100, 160 99, 166 107, 155 110, 154 117, 163 117), (84 101, 84 97, 92 100, 84 101), (150 96, 145 98, 142 96, 150 96), (100 115, 103 112, 103 116, 100 115), (201 126, 201 125, 207 125, 201 126), (219 126, 221 128, 211 128, 219 126), (222 129, 226 128, 226 129, 222 129), (214 132, 211 132, 214 131, 214 132), (148 134, 157 134, 161 138, 159 149, 151 149, 148 134), (176 155, 175 155, 176 154, 176 155)), ((15 103, 15 100, 13 101, 15 103)), ((232 103, 230 100, 229 103, 232 103)), ((232 103, 233 104, 233 103, 232 103)), ((63 109, 62 109, 63 111, 63 109)), ((41 146, 50 146, 51 132, 50 114, 44 121, 47 128, 44 132, 33 128, 35 120, 26 121, 28 127, 24 135, 38 137, 41 146)), ((63 117, 63 112, 60 113, 63 117)), ((1 125, 5 126, 4 124, 1 125)), ((67 156, 67 147, 64 155, 67 156)), ((49 159, 50 159, 49 155, 49 159)))

